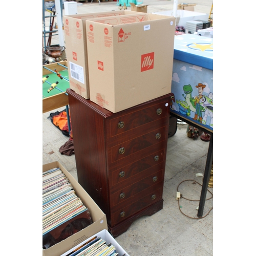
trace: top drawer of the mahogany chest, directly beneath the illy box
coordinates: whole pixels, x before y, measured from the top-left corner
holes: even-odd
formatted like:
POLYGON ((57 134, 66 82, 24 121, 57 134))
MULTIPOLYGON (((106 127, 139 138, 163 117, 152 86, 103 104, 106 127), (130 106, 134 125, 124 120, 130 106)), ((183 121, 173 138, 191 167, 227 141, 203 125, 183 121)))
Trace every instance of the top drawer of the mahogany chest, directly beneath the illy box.
POLYGON ((108 127, 110 138, 114 138, 120 134, 123 136, 127 131, 131 131, 145 124, 150 125, 153 121, 159 120, 167 115, 169 116, 169 108, 165 106, 165 103, 166 101, 163 101, 148 108, 111 119, 108 127))

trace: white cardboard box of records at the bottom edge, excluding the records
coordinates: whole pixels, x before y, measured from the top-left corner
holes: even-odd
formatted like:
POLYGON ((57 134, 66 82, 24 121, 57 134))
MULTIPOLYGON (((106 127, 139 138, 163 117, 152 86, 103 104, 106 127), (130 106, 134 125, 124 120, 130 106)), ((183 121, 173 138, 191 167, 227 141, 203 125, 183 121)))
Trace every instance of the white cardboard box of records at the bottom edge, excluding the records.
POLYGON ((81 242, 79 245, 77 245, 76 247, 74 247, 72 250, 69 250, 65 253, 63 253, 60 256, 67 256, 69 255, 69 253, 71 253, 74 249, 78 248, 79 246, 83 245, 84 243, 86 243, 87 241, 89 241, 90 239, 92 239, 93 237, 100 237, 101 239, 106 241, 106 244, 111 243, 112 245, 115 246, 116 248, 116 252, 118 252, 118 255, 120 256, 130 256, 118 243, 117 241, 111 236, 111 234, 108 232, 108 230, 104 229, 96 234, 94 234, 92 237, 90 237, 89 239, 81 242))

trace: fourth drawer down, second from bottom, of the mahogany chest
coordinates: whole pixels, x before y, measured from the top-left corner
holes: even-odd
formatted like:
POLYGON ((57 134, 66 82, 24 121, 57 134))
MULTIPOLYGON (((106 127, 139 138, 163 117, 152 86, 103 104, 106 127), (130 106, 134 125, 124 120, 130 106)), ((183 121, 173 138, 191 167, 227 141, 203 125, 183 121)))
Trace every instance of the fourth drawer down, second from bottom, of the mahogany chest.
POLYGON ((160 169, 158 172, 153 173, 127 187, 123 187, 116 193, 112 193, 110 200, 112 210, 116 211, 127 204, 132 204, 135 200, 137 200, 137 198, 141 198, 144 194, 147 194, 147 189, 149 187, 154 190, 152 186, 158 187, 157 184, 162 183, 163 176, 164 170, 160 169))

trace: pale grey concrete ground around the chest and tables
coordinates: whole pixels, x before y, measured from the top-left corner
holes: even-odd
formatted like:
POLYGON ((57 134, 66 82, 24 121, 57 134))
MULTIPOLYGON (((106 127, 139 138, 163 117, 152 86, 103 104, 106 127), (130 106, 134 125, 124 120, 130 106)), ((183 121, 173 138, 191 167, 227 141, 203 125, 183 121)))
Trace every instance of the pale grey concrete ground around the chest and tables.
MULTIPOLYGON (((187 0, 186 3, 195 3, 195 11, 203 13, 209 13, 212 4, 209 0, 187 0)), ((145 0, 144 4, 148 4, 148 13, 173 9, 173 1, 145 0)), ((116 2, 104 2, 101 5, 79 2, 77 9, 78 13, 118 10, 116 2)), ((55 40, 52 44, 58 44, 55 40)), ((63 109, 65 107, 57 110, 63 109)), ((59 153, 59 147, 68 138, 48 119, 50 113, 57 110, 42 114, 42 164, 59 161, 77 180, 75 155, 59 153)), ((136 220, 125 233, 116 238, 131 256, 213 255, 213 210, 205 218, 194 219, 197 218, 199 202, 181 199, 179 208, 176 200, 177 187, 182 181, 194 180, 202 184, 202 177, 196 174, 204 173, 209 145, 200 138, 188 138, 186 129, 186 124, 178 124, 176 134, 168 138, 163 209, 151 217, 144 216, 136 220)), ((199 200, 201 186, 194 181, 185 181, 179 186, 179 191, 185 198, 199 200)), ((209 188, 209 191, 213 193, 213 188, 209 188)), ((210 197, 210 193, 207 193, 206 198, 210 197)), ((204 215, 212 206, 213 199, 205 202, 204 215)))

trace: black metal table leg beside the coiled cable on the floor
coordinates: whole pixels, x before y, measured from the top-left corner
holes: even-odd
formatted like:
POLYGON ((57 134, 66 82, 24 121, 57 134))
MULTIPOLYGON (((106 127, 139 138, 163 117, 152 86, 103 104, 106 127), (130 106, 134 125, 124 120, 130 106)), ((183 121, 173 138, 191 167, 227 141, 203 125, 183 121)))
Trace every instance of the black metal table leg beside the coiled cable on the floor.
POLYGON ((213 159, 213 140, 214 140, 214 136, 212 133, 210 134, 210 144, 208 148, 208 154, 207 154, 206 165, 204 170, 203 185, 202 185, 198 214, 197 214, 197 216, 200 218, 203 217, 204 204, 205 204, 205 199, 207 194, 208 183, 210 179, 210 171, 211 171, 211 165, 212 165, 212 159, 213 159))

